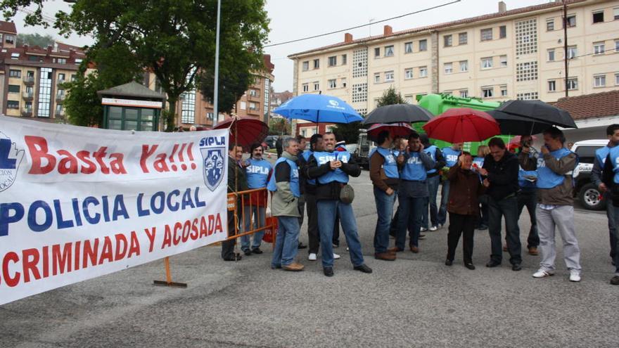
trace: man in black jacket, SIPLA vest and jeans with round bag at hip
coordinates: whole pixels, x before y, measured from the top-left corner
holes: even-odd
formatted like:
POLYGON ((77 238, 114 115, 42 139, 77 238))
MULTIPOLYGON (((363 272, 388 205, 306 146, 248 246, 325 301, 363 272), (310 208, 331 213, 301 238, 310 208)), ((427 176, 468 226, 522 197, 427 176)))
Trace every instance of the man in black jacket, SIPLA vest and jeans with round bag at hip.
MULTIPOLYGON (((316 200, 318 206, 318 227, 320 247, 322 249, 322 267, 325 276, 333 276, 333 226, 336 214, 342 221, 346 243, 350 251, 352 266, 357 271, 371 273, 372 269, 364 264, 357 233, 357 221, 352 205, 347 197, 342 200, 341 191, 348 183, 348 176, 359 176, 361 169, 347 151, 334 151, 336 136, 332 132, 323 135, 325 150, 315 152, 309 157, 307 174, 310 179, 317 179, 316 200)), ((350 199, 350 197, 348 197, 350 199)))

